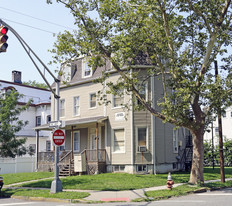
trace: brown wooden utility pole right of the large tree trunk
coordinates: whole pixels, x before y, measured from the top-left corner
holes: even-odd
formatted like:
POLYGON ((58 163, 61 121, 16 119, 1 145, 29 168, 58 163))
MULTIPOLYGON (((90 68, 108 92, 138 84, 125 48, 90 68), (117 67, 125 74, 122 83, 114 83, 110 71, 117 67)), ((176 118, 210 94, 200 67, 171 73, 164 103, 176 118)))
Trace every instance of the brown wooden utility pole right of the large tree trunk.
MULTIPOLYGON (((217 61, 214 61, 215 65, 215 78, 217 81, 218 77, 218 65, 217 61)), ((221 101, 220 101, 221 103, 221 101)), ((223 155, 223 137, 222 137, 222 111, 221 104, 218 106, 218 131, 219 131, 219 153, 220 153, 220 173, 221 173, 221 182, 225 182, 225 171, 224 171, 224 155, 223 155)))

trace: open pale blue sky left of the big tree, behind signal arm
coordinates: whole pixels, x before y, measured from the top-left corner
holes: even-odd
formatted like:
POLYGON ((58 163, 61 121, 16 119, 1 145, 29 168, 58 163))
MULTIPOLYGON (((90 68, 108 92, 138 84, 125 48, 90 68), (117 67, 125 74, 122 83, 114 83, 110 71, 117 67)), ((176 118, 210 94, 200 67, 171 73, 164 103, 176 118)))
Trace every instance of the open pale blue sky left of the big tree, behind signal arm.
MULTIPOLYGON (((56 35, 64 30, 75 29, 74 18, 68 8, 53 0, 0 0, 0 19, 10 25, 30 46, 36 55, 56 76, 60 65, 49 65, 56 35), (55 34, 55 35, 54 35, 55 34)), ((8 48, 0 53, 0 80, 12 81, 12 71, 22 72, 22 81, 45 83, 14 34, 8 30, 8 48)), ((42 72, 44 68, 38 64, 42 72)), ((45 77, 51 84, 53 78, 47 72, 45 77)))

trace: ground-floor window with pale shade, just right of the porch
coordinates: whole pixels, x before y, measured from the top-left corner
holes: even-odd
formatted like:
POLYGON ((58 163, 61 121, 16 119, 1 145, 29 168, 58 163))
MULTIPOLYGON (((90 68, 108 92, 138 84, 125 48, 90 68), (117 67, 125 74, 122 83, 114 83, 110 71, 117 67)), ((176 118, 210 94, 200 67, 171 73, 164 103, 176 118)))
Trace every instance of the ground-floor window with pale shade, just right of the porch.
POLYGON ((125 151, 125 134, 124 129, 114 130, 114 152, 124 152, 125 151))

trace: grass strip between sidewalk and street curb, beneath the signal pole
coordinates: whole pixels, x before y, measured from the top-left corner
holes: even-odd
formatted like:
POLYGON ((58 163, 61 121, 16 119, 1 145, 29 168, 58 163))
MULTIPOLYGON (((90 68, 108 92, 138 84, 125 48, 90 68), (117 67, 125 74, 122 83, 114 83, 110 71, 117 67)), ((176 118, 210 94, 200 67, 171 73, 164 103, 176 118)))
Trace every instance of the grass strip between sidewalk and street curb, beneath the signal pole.
POLYGON ((82 199, 89 196, 87 192, 58 192, 50 194, 50 190, 29 190, 29 189, 3 189, 2 196, 25 196, 25 197, 43 197, 43 198, 59 198, 59 199, 82 199))

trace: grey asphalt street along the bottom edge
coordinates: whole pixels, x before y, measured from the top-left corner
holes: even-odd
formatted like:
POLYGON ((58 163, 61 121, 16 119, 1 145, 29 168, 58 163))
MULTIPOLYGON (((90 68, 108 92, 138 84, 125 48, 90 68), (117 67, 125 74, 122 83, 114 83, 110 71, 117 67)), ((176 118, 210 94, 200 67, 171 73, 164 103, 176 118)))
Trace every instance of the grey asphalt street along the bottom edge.
POLYGON ((0 199, 0 206, 231 206, 232 188, 220 191, 191 194, 182 197, 170 198, 168 200, 152 201, 152 202, 129 202, 129 203, 103 203, 103 204, 73 204, 62 202, 37 202, 29 200, 19 200, 11 198, 0 199))

